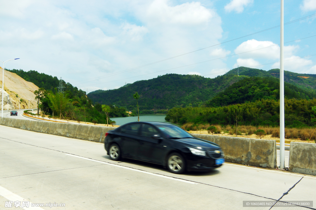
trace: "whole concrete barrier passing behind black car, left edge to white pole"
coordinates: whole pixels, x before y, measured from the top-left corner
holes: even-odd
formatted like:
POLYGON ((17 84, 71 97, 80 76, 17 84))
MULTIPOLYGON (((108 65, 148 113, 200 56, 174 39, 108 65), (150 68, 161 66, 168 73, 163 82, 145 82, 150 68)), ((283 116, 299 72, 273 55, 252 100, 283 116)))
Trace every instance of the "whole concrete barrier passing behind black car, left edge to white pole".
MULTIPOLYGON (((60 135, 70 138, 104 142, 104 135, 113 127, 54 123, 3 117, 0 124, 40 133, 60 135)), ((217 135, 192 134, 220 145, 225 154, 225 161, 264 168, 276 167, 276 141, 227 137, 217 135)))

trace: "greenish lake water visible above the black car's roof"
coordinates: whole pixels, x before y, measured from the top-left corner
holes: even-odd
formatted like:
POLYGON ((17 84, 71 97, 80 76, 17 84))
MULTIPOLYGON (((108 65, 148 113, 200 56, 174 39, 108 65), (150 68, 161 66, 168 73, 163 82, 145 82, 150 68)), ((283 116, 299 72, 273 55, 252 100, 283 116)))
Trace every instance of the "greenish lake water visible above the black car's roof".
MULTIPOLYGON (((165 120, 166 115, 164 114, 140 114, 139 121, 156 121, 168 123, 165 120)), ((111 120, 114 120, 117 125, 124 125, 125 123, 137 122, 138 116, 135 117, 112 117, 111 120)))

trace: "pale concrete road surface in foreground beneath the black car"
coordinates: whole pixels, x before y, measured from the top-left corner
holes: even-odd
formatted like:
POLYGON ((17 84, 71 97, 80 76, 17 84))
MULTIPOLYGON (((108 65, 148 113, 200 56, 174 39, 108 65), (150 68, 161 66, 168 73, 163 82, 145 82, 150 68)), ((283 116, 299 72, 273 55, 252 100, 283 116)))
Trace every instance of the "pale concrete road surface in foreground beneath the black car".
POLYGON ((100 143, 0 126, 0 209, 19 209, 4 207, 19 199, 65 203, 36 209, 270 209, 243 201, 316 206, 315 189, 314 176, 238 164, 176 175, 159 165, 112 161, 100 143))

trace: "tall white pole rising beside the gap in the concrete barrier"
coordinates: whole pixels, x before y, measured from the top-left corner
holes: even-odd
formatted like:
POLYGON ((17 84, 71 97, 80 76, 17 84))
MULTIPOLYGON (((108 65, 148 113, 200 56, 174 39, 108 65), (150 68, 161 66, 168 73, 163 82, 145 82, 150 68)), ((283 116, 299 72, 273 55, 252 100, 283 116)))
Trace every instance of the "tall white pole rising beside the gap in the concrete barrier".
POLYGON ((280 33, 280 168, 285 169, 284 163, 284 0, 281 0, 281 33, 280 33))

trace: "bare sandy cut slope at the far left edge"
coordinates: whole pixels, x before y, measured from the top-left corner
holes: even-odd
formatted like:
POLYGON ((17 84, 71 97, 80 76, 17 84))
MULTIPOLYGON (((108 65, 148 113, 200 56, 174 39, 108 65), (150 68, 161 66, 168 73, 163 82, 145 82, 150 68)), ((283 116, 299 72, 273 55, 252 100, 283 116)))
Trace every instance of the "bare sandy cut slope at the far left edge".
MULTIPOLYGON (((32 82, 25 81, 15 73, 4 70, 4 94, 3 94, 3 109, 18 109, 19 98, 21 98, 21 109, 36 108, 35 90, 39 89, 32 82), (9 103, 7 95, 9 95, 9 103), (29 100, 30 99, 30 103, 29 100)), ((2 68, 0 67, 0 110, 2 103, 2 68)))

